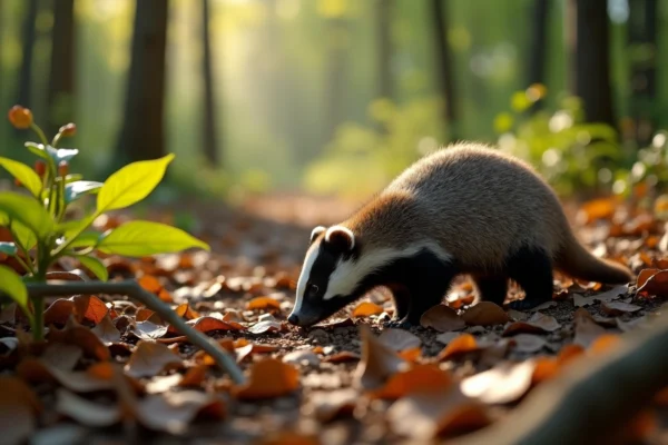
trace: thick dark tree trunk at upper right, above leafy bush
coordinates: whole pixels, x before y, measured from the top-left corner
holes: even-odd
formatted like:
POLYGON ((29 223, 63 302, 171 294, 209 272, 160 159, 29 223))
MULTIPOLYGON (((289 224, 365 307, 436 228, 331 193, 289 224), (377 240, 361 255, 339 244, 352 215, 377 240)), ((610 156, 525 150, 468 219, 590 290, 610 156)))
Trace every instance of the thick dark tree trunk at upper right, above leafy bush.
POLYGON ((615 127, 607 0, 569 0, 568 7, 571 92, 582 99, 588 122, 615 127))

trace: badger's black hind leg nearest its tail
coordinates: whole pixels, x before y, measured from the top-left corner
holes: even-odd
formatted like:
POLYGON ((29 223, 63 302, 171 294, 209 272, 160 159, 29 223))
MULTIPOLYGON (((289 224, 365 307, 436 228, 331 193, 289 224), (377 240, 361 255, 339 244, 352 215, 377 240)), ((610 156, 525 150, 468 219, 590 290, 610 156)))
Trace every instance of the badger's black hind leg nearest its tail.
POLYGON ((552 259, 543 249, 522 247, 510 256, 507 265, 508 275, 525 294, 524 299, 509 305, 512 309, 528 310, 552 300, 552 259))

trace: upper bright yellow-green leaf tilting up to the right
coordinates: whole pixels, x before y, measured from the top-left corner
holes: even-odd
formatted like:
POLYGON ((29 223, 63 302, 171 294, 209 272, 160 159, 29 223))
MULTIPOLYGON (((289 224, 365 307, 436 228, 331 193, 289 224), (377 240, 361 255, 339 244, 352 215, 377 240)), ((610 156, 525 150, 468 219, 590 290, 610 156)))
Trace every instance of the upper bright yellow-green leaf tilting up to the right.
POLYGON ((174 155, 141 160, 111 175, 98 194, 97 212, 120 209, 140 201, 160 182, 174 155))

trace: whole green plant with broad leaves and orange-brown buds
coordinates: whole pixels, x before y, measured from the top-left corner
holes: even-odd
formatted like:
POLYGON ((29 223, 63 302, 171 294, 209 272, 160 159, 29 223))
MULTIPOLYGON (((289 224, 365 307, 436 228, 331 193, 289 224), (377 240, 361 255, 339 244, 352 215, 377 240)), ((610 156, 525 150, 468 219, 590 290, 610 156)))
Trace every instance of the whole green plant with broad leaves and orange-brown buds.
POLYGON ((106 267, 91 255, 96 250, 147 256, 190 247, 209 248, 180 229, 153 221, 132 220, 105 233, 91 229, 94 220, 105 212, 146 198, 163 179, 174 155, 130 164, 105 182, 88 181, 68 171, 79 150, 57 148, 62 138, 75 135, 73 123, 61 127, 49 144, 29 109, 14 106, 8 117, 16 128, 32 129, 41 142, 26 142, 26 148, 38 157, 35 169, 0 158, 0 166, 22 189, 22 192, 0 192, 0 226, 12 237, 11 243, 0 243, 0 253, 16 258, 24 269, 20 277, 11 268, 0 266, 0 291, 27 314, 35 339, 43 337, 43 296, 29 298, 26 283, 46 283, 47 271, 58 258, 75 257, 106 281, 106 267), (67 211, 70 205, 89 195, 97 196, 95 210, 80 219, 70 219, 67 211))

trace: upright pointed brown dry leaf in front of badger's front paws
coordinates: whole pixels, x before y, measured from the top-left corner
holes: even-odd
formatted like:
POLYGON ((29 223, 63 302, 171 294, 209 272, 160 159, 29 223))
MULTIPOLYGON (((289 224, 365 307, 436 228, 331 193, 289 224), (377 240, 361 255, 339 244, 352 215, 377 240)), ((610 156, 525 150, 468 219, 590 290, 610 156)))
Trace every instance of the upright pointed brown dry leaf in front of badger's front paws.
POLYGON ((405 369, 407 364, 392 348, 381 343, 369 326, 360 326, 360 336, 362 360, 355 369, 355 386, 366 390, 379 389, 392 375, 405 369))

